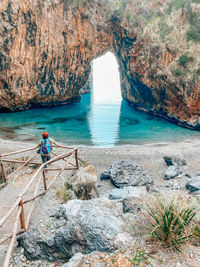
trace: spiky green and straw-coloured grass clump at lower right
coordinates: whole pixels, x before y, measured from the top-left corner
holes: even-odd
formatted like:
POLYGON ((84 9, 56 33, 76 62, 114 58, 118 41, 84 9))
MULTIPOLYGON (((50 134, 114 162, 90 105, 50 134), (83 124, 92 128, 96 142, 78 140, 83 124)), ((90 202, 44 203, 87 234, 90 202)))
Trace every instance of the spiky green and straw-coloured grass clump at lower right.
POLYGON ((146 210, 150 240, 180 251, 181 244, 192 237, 191 222, 196 214, 197 208, 187 200, 156 200, 146 210))

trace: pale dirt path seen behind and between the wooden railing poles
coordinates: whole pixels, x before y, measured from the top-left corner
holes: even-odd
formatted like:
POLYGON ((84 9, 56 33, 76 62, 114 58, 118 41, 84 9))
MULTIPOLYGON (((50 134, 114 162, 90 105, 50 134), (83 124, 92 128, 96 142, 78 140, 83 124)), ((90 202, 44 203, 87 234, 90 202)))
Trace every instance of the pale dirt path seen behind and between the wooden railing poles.
MULTIPOLYGON (((51 164, 51 167, 62 167, 64 165, 64 162, 56 162, 51 164)), ((0 190, 0 219, 8 212, 8 210, 13 206, 15 201, 17 200, 17 197, 20 195, 20 193, 23 191, 23 189, 26 187, 26 185, 29 183, 30 179, 34 175, 37 169, 33 169, 31 167, 24 167, 21 171, 19 171, 14 177, 11 177, 8 181, 8 184, 0 190)), ((57 174, 58 171, 48 171, 47 174, 45 174, 47 179, 47 185, 53 180, 54 176, 57 174)), ((32 183, 30 186, 30 189, 27 191, 27 193, 23 196, 23 201, 26 199, 29 199, 33 196, 37 181, 41 174, 36 178, 36 180, 32 183)), ((47 214, 46 207, 48 205, 44 205, 45 199, 49 199, 52 192, 56 191, 59 186, 62 186, 63 182, 60 177, 58 177, 55 184, 52 186, 52 188, 49 190, 50 192, 47 192, 47 196, 40 197, 40 200, 36 200, 35 209, 39 211, 39 214, 37 212, 33 211, 30 226, 33 225, 33 223, 37 223, 38 221, 38 215, 42 217, 42 213, 44 215, 47 214), (41 209, 41 207, 43 207, 41 209), (33 219, 35 218, 35 220, 33 219)), ((43 192, 43 182, 41 180, 40 186, 39 186, 39 192, 43 192)), ((54 194, 55 195, 55 194, 54 194)), ((24 212, 25 212, 25 219, 27 218, 28 212, 30 210, 31 203, 27 203, 24 205, 24 212)), ((15 222, 15 216, 16 212, 14 212, 9 219, 4 223, 2 227, 0 227, 0 239, 6 237, 10 233, 12 233, 13 224, 15 222)), ((19 226, 20 227, 20 226, 19 226)), ((18 227, 18 228, 19 228, 18 227)), ((20 228, 19 228, 20 229, 20 228)), ((9 242, 5 242, 2 245, 0 245, 0 266, 3 266, 3 262, 5 259, 7 247, 9 242)))

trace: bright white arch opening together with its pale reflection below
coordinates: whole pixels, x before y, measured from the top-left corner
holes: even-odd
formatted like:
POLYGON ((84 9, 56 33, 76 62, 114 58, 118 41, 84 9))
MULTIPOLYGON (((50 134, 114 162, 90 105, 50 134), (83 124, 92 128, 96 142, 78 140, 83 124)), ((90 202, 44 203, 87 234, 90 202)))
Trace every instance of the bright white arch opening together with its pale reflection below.
POLYGON ((93 61, 90 131, 95 145, 110 146, 118 139, 121 105, 119 66, 108 52, 93 61))

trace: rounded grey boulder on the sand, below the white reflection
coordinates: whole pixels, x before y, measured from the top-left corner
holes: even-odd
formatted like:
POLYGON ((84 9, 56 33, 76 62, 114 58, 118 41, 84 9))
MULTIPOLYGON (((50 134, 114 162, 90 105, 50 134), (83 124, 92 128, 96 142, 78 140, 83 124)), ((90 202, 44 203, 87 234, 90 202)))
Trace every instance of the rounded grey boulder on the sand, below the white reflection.
POLYGON ((113 163, 100 177, 101 180, 106 178, 118 188, 153 184, 150 175, 140 164, 132 160, 113 163))

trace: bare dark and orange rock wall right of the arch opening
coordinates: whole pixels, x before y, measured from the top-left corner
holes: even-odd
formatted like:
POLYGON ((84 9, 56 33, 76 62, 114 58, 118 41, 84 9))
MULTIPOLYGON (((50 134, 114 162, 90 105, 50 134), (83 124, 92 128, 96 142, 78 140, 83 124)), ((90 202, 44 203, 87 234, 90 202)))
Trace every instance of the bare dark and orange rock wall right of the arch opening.
POLYGON ((114 53, 121 75, 122 97, 133 107, 181 126, 200 129, 200 81, 177 78, 169 71, 178 55, 167 44, 138 37, 113 18, 114 53))

